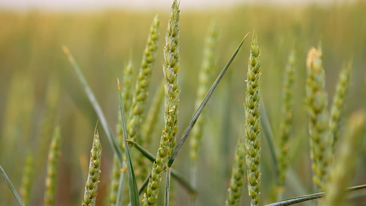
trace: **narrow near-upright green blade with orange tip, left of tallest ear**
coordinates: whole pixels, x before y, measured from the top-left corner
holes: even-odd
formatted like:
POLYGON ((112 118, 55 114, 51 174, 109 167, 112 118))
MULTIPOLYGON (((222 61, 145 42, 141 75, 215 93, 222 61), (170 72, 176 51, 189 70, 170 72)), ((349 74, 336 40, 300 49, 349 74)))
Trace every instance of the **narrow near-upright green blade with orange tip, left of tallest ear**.
MULTIPOLYGON (((121 86, 118 82, 118 97, 119 97, 119 107, 121 110, 121 117, 122 117, 122 128, 123 128, 123 138, 127 139, 127 127, 126 127, 126 118, 124 117, 124 109, 123 109, 123 100, 122 100, 122 93, 121 93, 121 86)), ((128 178, 128 191, 130 193, 130 202, 132 206, 139 206, 139 194, 137 188, 137 181, 134 173, 134 167, 132 166, 132 160, 130 156, 130 145, 127 141, 124 141, 124 148, 126 153, 126 165, 127 165, 127 178, 128 178)))

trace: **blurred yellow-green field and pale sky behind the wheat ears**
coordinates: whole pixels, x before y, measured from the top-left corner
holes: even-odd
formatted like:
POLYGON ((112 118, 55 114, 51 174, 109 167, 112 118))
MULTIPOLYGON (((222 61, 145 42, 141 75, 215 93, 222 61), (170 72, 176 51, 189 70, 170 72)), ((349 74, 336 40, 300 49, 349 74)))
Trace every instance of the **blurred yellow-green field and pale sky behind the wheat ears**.
MULTIPOLYGON (((56 205, 80 204, 85 187, 87 172, 83 165, 89 161, 97 116, 61 47, 66 45, 79 63, 114 132, 119 112, 116 77, 122 78, 130 53, 137 75, 156 13, 160 15, 161 32, 147 108, 163 78, 162 45, 171 3, 171 0, 0 2, 0 164, 18 189, 25 157, 28 152, 33 153, 35 175, 31 205, 41 205, 43 201, 48 147, 56 124, 61 127, 62 144, 56 205)), ((216 21, 219 27, 217 63, 211 82, 244 35, 255 29, 261 48, 261 94, 276 144, 282 118, 283 74, 292 48, 297 57, 294 124, 289 150, 290 165, 299 176, 299 184, 287 179, 283 199, 314 193, 304 101, 306 53, 311 46, 316 47, 321 42, 328 104, 339 71, 353 57, 344 118, 359 108, 366 109, 366 1, 181 0, 180 8, 178 74, 182 92, 177 138, 195 112, 198 73, 210 22, 216 21)), ((250 39, 243 44, 205 108, 209 118, 199 156, 199 205, 223 205, 226 198, 235 144, 243 135, 245 122, 244 80, 250 39)), ((160 141, 162 115, 157 121, 154 143, 149 148, 152 154, 156 154, 160 141)), ((113 153, 104 130, 100 125, 98 129, 103 153, 97 205, 107 205, 113 153)), ((365 143, 352 185, 366 183, 365 143)), ((190 172, 188 146, 187 142, 174 165, 187 179, 190 172)), ((260 205, 270 203, 275 170, 263 134, 260 205)), ((0 191, 0 205, 16 205, 3 180, 0 180, 0 191)), ((160 194, 159 199, 163 200, 163 196, 160 194)), ((188 193, 178 184, 175 198, 176 205, 188 203, 188 193)), ((247 188, 242 202, 243 205, 249 203, 247 188)), ((365 203, 366 196, 348 202, 349 205, 365 203)))

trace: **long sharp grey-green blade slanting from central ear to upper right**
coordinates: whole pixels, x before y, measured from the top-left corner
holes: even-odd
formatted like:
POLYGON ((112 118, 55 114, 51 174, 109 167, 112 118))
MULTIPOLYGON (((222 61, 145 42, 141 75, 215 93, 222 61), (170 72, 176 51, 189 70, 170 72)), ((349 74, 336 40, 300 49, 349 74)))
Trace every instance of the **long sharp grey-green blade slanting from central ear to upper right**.
MULTIPOLYGON (((250 33, 250 32, 249 32, 250 33)), ((243 45, 245 39, 247 38, 248 34, 245 35, 245 37, 243 38, 242 42, 240 42, 238 48, 236 48, 234 54, 232 54, 231 58, 229 59, 229 61, 226 63, 224 69, 221 71, 221 73, 219 74, 219 76, 217 77, 217 79, 215 80, 215 82, 213 83, 213 85, 211 86, 210 90, 207 92, 205 99, 202 100, 201 105, 198 107, 196 113, 194 113, 191 121, 188 123, 186 129, 184 130, 182 136, 179 139, 179 142, 177 144, 177 146, 174 148, 172 155, 169 158, 168 161, 168 167, 171 168, 175 159, 177 158, 180 150, 182 150, 183 144, 184 142, 187 140, 187 137, 189 135, 189 133, 191 132, 194 124, 196 123, 199 115, 201 114, 203 108, 206 106, 208 100, 210 99, 210 97, 212 96, 213 91, 215 90, 215 88, 217 87, 217 85, 219 84, 220 80, 223 78, 225 72, 228 70, 231 62, 234 60, 236 54, 238 54, 238 51, 240 49, 240 47, 243 45)))

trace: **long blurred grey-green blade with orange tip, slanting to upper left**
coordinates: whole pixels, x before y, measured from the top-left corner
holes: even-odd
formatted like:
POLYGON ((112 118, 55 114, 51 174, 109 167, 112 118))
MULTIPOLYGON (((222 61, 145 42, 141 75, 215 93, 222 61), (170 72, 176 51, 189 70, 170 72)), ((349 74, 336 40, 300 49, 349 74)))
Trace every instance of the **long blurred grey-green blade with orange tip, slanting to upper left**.
POLYGON ((104 116, 102 108, 100 107, 93 91, 91 91, 87 81, 85 80, 85 77, 84 77, 83 73, 81 72, 81 69, 80 69, 79 65, 76 63, 74 57, 71 55, 68 48, 64 46, 63 51, 66 54, 72 69, 74 69, 74 71, 76 72, 79 81, 83 85, 85 93, 86 93, 91 105, 93 106, 95 112, 97 113, 99 121, 100 121, 100 123, 101 123, 101 125, 104 129, 104 132, 107 135, 107 139, 109 141, 109 144, 111 144, 112 150, 113 150, 114 154, 116 155, 116 157, 118 159, 119 165, 122 167, 122 163, 123 163, 122 150, 118 146, 115 138, 113 138, 111 127, 108 125, 107 119, 104 116))

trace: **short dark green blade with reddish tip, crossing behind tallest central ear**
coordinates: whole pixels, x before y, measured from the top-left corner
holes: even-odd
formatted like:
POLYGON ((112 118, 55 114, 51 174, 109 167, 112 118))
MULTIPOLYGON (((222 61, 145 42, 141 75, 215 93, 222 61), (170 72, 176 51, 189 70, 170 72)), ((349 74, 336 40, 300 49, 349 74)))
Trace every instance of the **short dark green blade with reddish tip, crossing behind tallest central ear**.
MULTIPOLYGON (((152 155, 149 151, 145 150, 141 145, 137 144, 136 142, 134 142, 132 140, 126 140, 125 139, 125 141, 127 141, 127 143, 130 144, 131 146, 134 146, 138 151, 141 152, 142 155, 144 155, 151 162, 154 162, 155 161, 154 155, 152 155)), ((167 166, 165 166, 165 169, 166 168, 167 168, 167 166)), ((171 175, 172 175, 172 177, 174 177, 179 182, 179 184, 181 184, 184 188, 186 188, 186 190, 188 192, 190 192, 191 195, 197 194, 196 188, 193 187, 193 185, 191 185, 190 181, 186 180, 182 175, 180 175, 173 168, 171 168, 171 175)), ((150 173, 150 176, 151 176, 151 173, 150 173)), ((145 181, 146 181, 146 179, 145 179, 145 181)), ((143 191, 143 187, 144 186, 141 187, 142 188, 142 191, 143 191)), ((141 188, 140 188, 140 190, 141 190, 141 188)))

